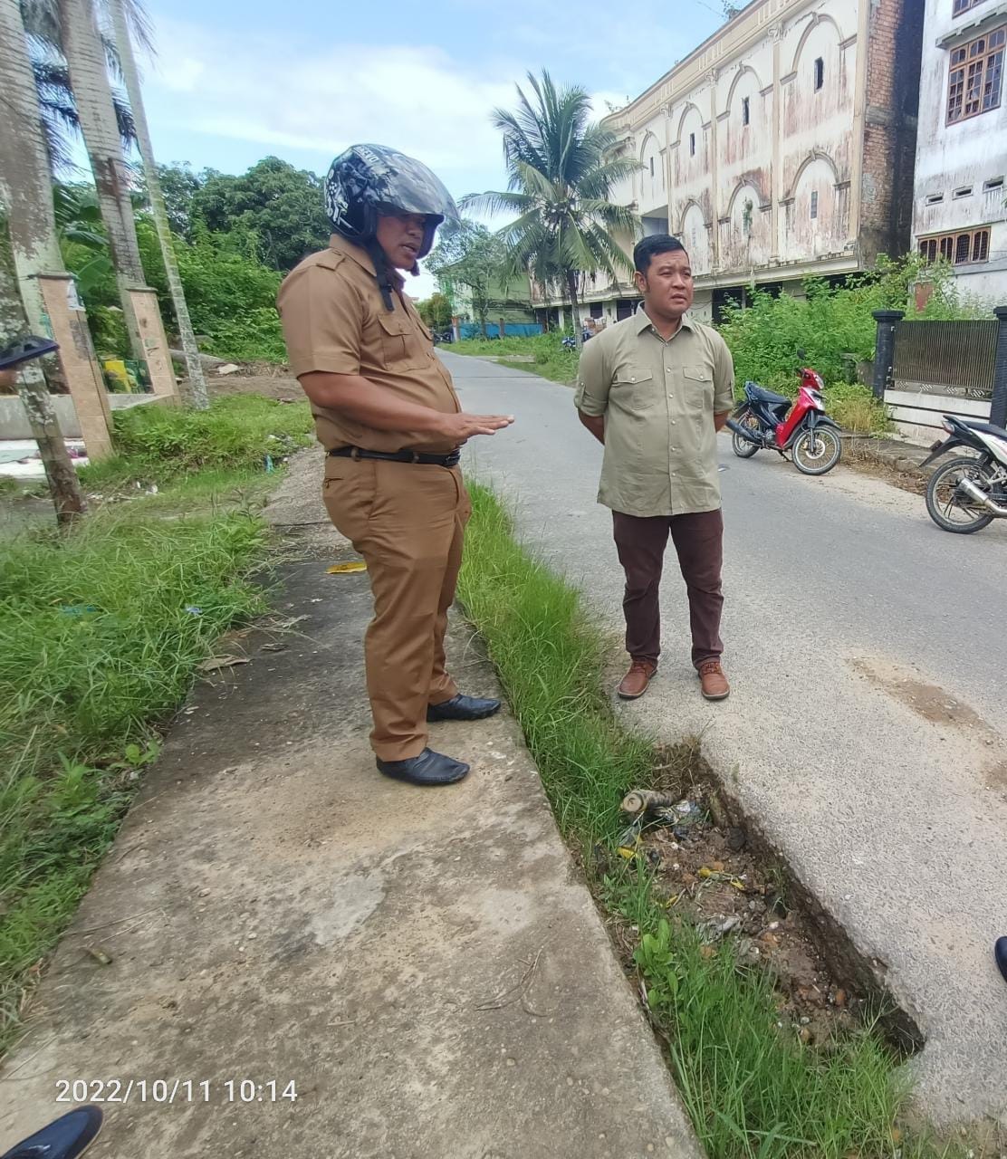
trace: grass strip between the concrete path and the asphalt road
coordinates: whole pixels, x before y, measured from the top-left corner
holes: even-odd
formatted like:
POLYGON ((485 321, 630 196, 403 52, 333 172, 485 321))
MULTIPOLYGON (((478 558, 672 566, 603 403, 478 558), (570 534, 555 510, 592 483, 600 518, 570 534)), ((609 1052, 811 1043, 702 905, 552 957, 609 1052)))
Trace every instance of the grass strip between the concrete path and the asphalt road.
MULTIPOLYGON (((619 801, 654 787, 656 752, 613 717, 601 686, 605 640, 579 597, 515 540, 508 513, 472 488, 460 595, 486 639, 564 836, 584 854, 618 833, 619 801)), ((591 858, 584 858, 590 867, 591 858)), ((613 858, 612 863, 618 863, 613 858)), ((829 1050, 778 1027, 772 979, 672 925, 643 867, 593 881, 640 932, 636 968, 651 1020, 712 1159, 934 1159, 951 1156, 900 1125, 904 1072, 869 1028, 829 1050)))

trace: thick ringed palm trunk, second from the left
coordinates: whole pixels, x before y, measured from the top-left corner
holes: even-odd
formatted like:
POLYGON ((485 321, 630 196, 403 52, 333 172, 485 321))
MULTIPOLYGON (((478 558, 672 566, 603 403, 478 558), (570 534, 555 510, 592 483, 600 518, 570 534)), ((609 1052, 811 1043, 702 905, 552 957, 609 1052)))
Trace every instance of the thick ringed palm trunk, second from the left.
POLYGON ((109 241, 119 302, 133 358, 144 359, 144 340, 127 291, 146 284, 130 175, 116 119, 104 44, 95 20, 94 0, 59 0, 60 42, 80 118, 97 202, 109 241))

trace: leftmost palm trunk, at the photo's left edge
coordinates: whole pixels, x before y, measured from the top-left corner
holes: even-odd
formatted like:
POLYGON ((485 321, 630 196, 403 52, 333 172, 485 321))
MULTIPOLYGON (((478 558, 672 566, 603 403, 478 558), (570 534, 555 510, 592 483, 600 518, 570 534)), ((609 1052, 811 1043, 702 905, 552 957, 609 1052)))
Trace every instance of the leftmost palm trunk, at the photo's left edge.
MULTIPOLYGON (((0 326, 5 340, 9 340, 25 328, 48 333, 36 275, 64 272, 38 93, 19 0, 0 0, 0 76, 5 99, 0 116, 0 204, 7 212, 14 264, 12 275, 6 254, 0 254, 0 326)), ((28 411, 31 436, 38 443, 57 519, 65 523, 87 510, 87 504, 38 363, 29 363, 21 372, 19 394, 28 411)))

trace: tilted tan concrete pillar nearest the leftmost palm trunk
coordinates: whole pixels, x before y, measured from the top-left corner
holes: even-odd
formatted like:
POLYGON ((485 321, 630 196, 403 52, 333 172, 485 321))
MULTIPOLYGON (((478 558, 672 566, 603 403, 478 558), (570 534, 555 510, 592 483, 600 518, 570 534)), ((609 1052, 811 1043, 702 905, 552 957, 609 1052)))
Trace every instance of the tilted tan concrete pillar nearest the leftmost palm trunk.
POLYGON ((59 343, 63 376, 70 387, 88 459, 112 453, 111 408, 104 377, 95 357, 76 283, 68 274, 39 274, 38 286, 52 337, 59 343))

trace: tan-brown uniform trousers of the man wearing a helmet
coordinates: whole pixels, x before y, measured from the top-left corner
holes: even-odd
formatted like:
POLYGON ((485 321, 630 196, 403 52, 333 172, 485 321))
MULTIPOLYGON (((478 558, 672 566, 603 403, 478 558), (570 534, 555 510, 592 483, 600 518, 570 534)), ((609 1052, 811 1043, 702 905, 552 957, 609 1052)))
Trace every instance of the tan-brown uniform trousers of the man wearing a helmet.
POLYGON ((426 746, 426 706, 457 695, 444 634, 472 513, 455 467, 326 459, 329 518, 367 564, 374 618, 364 640, 371 746, 407 760, 426 746))

